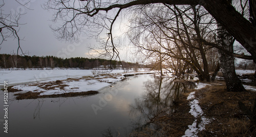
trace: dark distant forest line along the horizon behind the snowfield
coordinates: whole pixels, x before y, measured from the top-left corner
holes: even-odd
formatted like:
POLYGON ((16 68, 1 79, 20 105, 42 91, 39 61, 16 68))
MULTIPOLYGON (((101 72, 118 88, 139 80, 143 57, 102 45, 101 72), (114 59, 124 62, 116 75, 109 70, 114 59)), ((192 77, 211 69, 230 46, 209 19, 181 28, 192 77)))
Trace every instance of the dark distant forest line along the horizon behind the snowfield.
POLYGON ((124 68, 139 68, 143 67, 138 63, 106 60, 100 58, 58 58, 55 56, 17 56, 9 54, 0 54, 0 68, 44 68, 44 67, 63 67, 63 68, 79 68, 79 69, 94 69, 94 68, 110 68, 116 69, 117 67, 124 68), (111 64, 111 66, 110 66, 111 64))

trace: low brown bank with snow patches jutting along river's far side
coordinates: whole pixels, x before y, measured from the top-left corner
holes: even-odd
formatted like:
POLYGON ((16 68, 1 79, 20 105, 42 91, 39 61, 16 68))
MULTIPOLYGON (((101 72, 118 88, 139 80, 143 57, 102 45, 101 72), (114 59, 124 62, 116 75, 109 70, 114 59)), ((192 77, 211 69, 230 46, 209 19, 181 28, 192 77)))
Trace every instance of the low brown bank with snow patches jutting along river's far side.
POLYGON ((122 81, 125 77, 140 74, 153 74, 155 72, 131 72, 120 73, 119 71, 100 72, 98 75, 89 75, 61 79, 56 81, 47 80, 46 82, 33 82, 9 86, 9 92, 14 94, 15 99, 37 99, 37 98, 57 98, 57 97, 76 97, 90 96, 98 94, 101 88, 111 86, 112 83, 122 81))

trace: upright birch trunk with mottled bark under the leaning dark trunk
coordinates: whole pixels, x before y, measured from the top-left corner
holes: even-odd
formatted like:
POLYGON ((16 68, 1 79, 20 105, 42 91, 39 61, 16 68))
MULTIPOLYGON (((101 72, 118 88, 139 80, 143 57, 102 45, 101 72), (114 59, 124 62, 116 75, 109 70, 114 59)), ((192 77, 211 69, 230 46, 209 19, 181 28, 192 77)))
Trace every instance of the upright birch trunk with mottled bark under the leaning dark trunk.
MULTIPOLYGON (((233 52, 232 36, 218 24, 218 44, 229 52, 233 52)), ((221 72, 226 82, 228 92, 244 92, 245 88, 241 80, 237 77, 234 69, 234 57, 228 56, 225 52, 219 50, 219 63, 221 72)))

